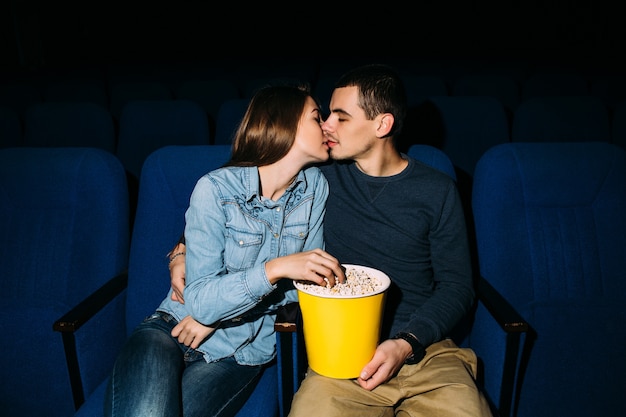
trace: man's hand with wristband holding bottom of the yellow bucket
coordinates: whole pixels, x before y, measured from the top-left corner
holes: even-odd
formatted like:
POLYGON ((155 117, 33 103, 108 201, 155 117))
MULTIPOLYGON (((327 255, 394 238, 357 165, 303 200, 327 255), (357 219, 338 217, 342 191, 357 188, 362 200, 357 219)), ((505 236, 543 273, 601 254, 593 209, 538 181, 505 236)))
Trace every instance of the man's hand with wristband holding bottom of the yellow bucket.
POLYGON ((385 340, 376 348, 372 360, 363 367, 357 382, 364 389, 373 390, 396 375, 410 355, 411 346, 407 341, 402 339, 385 340))

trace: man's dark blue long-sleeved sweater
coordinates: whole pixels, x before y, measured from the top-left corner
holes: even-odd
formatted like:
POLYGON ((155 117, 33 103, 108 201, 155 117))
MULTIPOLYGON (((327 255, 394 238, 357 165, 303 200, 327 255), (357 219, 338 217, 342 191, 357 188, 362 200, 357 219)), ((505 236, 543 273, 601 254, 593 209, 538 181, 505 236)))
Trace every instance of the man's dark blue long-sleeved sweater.
POLYGON ((324 233, 327 251, 341 263, 391 278, 383 340, 410 332, 428 346, 469 311, 472 268, 455 182, 408 159, 391 177, 370 177, 352 162, 321 166, 330 186, 324 233))

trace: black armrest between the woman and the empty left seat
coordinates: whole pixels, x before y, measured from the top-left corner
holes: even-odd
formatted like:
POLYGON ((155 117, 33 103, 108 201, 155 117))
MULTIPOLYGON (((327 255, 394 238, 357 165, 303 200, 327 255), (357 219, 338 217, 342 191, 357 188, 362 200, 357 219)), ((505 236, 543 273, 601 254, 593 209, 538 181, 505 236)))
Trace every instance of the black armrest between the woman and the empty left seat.
POLYGON ((74 407, 77 410, 82 403, 85 402, 85 393, 83 391, 83 382, 78 365, 74 332, 80 329, 82 325, 87 323, 96 313, 119 295, 126 288, 127 283, 128 274, 126 272, 111 278, 102 287, 87 296, 87 298, 52 324, 52 329, 61 332, 63 338, 63 349, 65 351, 65 360, 67 361, 67 370, 72 386, 74 407))

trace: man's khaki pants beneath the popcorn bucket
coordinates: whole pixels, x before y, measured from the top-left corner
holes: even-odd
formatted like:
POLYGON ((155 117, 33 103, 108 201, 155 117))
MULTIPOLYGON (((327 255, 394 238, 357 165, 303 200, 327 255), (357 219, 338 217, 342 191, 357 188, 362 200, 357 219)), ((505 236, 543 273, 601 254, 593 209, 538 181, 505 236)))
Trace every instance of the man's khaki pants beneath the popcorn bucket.
POLYGON ((476 387, 476 355, 451 340, 434 343, 424 359, 372 391, 352 379, 333 379, 310 368, 289 417, 490 417, 476 387))

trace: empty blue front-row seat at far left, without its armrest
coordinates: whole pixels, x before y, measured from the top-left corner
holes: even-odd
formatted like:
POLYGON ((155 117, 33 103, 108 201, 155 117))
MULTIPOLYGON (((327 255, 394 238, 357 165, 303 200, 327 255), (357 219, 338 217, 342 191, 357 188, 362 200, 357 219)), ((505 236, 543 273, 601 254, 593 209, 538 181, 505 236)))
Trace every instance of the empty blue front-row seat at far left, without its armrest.
MULTIPOLYGON (((127 267, 124 169, 94 148, 0 150, 0 414, 74 411, 53 322, 127 267)), ((79 363, 102 373, 99 319, 77 334, 79 363), (99 335, 85 344, 83 336, 99 335)))

